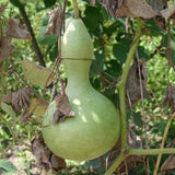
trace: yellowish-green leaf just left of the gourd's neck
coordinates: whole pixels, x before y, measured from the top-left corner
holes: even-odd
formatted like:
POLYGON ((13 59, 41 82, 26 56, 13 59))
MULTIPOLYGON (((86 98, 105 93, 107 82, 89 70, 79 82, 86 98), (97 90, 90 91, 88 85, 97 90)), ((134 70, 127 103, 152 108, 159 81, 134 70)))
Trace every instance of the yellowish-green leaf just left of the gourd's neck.
POLYGON ((22 69, 25 79, 39 86, 45 86, 46 83, 48 86, 55 78, 55 73, 50 69, 38 66, 27 59, 22 61, 22 69))

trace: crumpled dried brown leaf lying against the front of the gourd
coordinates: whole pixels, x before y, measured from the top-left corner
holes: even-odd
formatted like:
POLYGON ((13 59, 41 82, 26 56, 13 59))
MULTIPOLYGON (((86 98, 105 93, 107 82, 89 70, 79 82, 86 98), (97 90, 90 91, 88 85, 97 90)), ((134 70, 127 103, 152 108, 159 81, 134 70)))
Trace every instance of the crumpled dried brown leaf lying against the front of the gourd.
POLYGON ((60 81, 60 89, 55 97, 57 110, 54 114, 52 125, 63 121, 68 117, 73 117, 74 112, 70 107, 69 98, 66 94, 66 85, 60 81))

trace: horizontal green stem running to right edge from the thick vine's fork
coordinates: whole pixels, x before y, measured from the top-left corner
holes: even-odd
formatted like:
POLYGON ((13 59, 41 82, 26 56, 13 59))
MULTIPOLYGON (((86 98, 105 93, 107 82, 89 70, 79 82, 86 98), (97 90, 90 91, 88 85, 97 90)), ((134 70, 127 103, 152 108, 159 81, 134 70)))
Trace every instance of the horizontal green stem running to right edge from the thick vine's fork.
POLYGON ((129 149, 129 155, 156 155, 175 153, 175 148, 167 149, 129 149))

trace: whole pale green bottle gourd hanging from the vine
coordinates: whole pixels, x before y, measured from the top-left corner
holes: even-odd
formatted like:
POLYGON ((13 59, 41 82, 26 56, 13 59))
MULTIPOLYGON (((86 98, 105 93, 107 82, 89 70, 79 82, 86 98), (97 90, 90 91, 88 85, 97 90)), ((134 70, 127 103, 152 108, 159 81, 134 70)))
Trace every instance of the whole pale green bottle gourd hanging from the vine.
POLYGON ((117 142, 120 119, 114 104, 90 84, 93 44, 81 19, 69 22, 62 37, 61 55, 68 77, 66 92, 75 116, 52 125, 56 110, 52 102, 44 115, 43 137, 48 148, 60 158, 74 161, 95 159, 117 142))

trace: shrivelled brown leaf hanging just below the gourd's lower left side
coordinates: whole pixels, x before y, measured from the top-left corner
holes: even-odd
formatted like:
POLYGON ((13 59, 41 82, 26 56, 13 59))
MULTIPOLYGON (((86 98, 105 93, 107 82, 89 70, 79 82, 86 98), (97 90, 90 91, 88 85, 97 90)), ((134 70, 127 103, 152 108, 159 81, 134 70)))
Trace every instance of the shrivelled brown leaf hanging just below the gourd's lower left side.
POLYGON ((49 156, 47 150, 45 149, 45 143, 40 137, 36 137, 32 140, 32 153, 36 156, 38 163, 45 167, 46 171, 49 171, 51 164, 49 162, 49 156))

